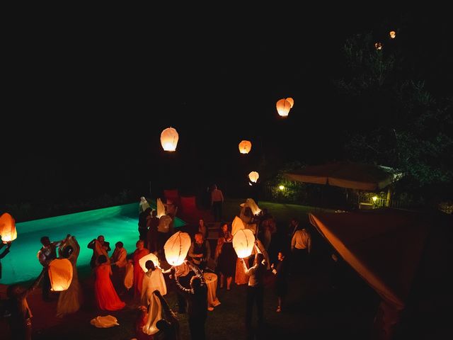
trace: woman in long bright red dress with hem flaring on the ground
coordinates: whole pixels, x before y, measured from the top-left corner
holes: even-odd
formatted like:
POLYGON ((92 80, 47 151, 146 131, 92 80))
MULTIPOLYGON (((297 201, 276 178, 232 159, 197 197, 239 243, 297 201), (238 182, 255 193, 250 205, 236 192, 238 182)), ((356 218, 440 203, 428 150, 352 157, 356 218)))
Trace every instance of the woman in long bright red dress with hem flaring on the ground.
POLYGON ((105 255, 98 257, 98 266, 94 269, 96 273, 96 281, 94 281, 94 295, 100 310, 121 310, 125 307, 125 302, 120 300, 115 288, 113 288, 112 268, 110 263, 107 262, 105 255))

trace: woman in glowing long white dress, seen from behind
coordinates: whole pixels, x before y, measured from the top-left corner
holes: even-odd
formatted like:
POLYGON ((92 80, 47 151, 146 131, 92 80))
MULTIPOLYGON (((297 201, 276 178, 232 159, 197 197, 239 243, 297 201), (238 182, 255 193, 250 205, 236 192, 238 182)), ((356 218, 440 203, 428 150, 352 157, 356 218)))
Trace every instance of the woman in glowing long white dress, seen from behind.
POLYGON ((147 261, 145 266, 148 271, 143 277, 141 301, 142 305, 148 306, 148 319, 144 324, 143 331, 146 334, 155 334, 159 331, 156 322, 162 318, 162 306, 161 301, 153 292, 159 290, 161 295, 166 295, 167 286, 161 268, 154 266, 154 262, 151 260, 147 261))

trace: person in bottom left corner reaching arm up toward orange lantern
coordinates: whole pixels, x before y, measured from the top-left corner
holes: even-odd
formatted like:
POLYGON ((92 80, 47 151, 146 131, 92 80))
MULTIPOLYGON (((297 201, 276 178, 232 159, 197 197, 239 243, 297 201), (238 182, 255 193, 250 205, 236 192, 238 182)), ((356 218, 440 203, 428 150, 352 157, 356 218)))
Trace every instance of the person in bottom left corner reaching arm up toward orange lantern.
MULTIPOLYGON (((7 300, 4 302, 4 316, 8 318, 11 339, 31 340, 33 314, 28 307, 27 297, 40 284, 47 273, 47 265, 43 265, 40 276, 28 288, 13 284, 6 289, 7 300)), ((48 275, 48 274, 47 274, 48 275)))

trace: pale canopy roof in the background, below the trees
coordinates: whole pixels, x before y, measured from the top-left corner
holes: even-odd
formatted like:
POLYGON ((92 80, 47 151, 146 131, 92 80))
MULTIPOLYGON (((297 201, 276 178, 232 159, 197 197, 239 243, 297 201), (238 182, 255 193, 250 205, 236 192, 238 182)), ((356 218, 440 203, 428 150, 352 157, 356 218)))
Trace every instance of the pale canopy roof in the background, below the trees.
POLYGON ((329 184, 342 188, 375 191, 388 186, 398 176, 387 166, 338 162, 306 166, 303 169, 285 174, 290 181, 329 184))

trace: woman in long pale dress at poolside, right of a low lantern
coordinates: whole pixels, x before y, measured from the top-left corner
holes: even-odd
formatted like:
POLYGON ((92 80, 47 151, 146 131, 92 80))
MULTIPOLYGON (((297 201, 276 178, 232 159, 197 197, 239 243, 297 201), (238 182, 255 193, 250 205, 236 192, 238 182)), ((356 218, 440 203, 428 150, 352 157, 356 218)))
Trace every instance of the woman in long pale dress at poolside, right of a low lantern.
POLYGON ((66 314, 75 313, 80 309, 82 290, 77 274, 77 258, 79 257, 80 246, 74 236, 68 235, 61 246, 59 246, 59 257, 66 258, 72 264, 72 280, 67 290, 59 293, 57 302, 57 317, 64 317, 66 314))

